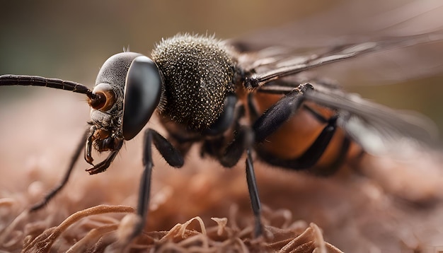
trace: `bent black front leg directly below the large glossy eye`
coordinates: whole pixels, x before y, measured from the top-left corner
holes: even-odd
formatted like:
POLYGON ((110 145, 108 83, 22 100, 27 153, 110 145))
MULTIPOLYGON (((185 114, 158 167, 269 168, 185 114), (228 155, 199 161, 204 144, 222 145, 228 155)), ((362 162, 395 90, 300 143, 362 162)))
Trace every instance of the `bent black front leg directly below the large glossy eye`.
MULTIPOLYGON (((149 196, 151 192, 151 174, 154 163, 152 160, 152 143, 159 150, 166 162, 173 167, 183 166, 183 156, 172 146, 172 144, 161 136, 154 129, 147 129, 144 134, 144 170, 140 180, 139 200, 137 205, 137 215, 141 218, 134 227, 132 238, 136 237, 144 228, 144 223, 149 210, 149 196)), ((131 239, 132 239, 131 238, 131 239)))

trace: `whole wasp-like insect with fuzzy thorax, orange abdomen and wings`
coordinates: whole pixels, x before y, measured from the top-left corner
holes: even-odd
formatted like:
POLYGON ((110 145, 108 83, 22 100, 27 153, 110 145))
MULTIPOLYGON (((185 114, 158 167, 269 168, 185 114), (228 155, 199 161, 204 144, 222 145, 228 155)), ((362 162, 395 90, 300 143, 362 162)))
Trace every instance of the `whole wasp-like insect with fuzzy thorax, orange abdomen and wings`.
POLYGON ((31 211, 45 206, 69 180, 84 149, 89 174, 104 172, 125 141, 140 134, 154 113, 168 132, 144 130, 144 171, 137 216, 130 239, 144 228, 151 189, 155 147, 172 167, 200 145, 201 154, 224 167, 244 160, 255 217, 255 236, 263 233, 254 160, 317 175, 333 174, 362 153, 381 151, 403 139, 428 143, 432 131, 419 117, 402 114, 359 95, 345 93, 330 81, 306 78, 318 66, 401 45, 442 40, 426 34, 343 44, 321 54, 241 52, 238 45, 214 36, 178 34, 162 40, 151 57, 135 52, 113 55, 101 67, 93 90, 72 81, 40 76, 3 75, 0 86, 45 86, 86 95, 91 122, 60 184, 31 211), (93 148, 107 152, 94 163, 93 148))

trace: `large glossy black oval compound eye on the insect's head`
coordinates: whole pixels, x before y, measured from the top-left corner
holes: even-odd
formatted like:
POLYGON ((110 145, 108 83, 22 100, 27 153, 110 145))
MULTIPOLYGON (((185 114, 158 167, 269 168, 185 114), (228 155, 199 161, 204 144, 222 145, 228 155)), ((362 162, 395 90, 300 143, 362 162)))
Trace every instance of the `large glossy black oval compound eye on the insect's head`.
POLYGON ((130 140, 149 121, 160 102, 162 79, 154 61, 139 56, 127 71, 123 102, 122 133, 130 140))

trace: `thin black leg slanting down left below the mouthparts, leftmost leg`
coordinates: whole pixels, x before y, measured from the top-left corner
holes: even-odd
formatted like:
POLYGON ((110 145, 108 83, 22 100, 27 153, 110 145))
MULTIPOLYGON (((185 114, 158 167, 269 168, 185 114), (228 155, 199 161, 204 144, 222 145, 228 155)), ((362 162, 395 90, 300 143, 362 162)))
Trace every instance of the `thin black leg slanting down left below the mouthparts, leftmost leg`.
POLYGON ((60 190, 67 184, 69 180, 69 176, 71 175, 72 169, 74 168, 76 161, 79 159, 79 156, 81 154, 81 149, 84 147, 84 142, 86 138, 88 137, 89 129, 87 129, 83 136, 81 136, 81 141, 79 145, 77 145, 77 149, 74 152, 74 155, 72 155, 71 163, 69 163, 68 170, 64 173, 64 177, 62 182, 57 187, 54 187, 48 194, 46 194, 45 198, 40 201, 40 203, 35 204, 30 208, 30 211, 37 211, 43 206, 45 206, 60 190))

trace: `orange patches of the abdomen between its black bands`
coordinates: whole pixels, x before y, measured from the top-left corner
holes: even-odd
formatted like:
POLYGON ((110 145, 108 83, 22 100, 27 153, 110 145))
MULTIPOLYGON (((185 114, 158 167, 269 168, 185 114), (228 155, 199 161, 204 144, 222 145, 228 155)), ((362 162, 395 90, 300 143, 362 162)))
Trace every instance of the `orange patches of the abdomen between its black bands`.
MULTIPOLYGON (((275 104, 280 98, 282 98, 282 95, 255 93, 253 95, 255 110, 259 115, 263 114, 265 110, 275 104)), ((317 139, 318 135, 321 134, 321 131, 323 131, 323 128, 327 126, 327 123, 319 121, 306 107, 310 107, 311 110, 326 120, 335 114, 335 111, 330 108, 316 105, 313 102, 303 102, 299 110, 297 110, 282 127, 277 129, 274 134, 268 136, 263 143, 259 143, 258 146, 256 146, 263 160, 269 160, 267 157, 270 155, 272 155, 272 160, 293 160, 299 158, 311 147, 312 143, 317 139), (263 153, 266 155, 263 155, 263 153)), ((362 148, 354 142, 350 143, 347 151, 343 151, 344 141, 345 133, 342 129, 338 128, 328 143, 328 147, 323 155, 321 155, 312 167, 312 170, 316 173, 318 172, 318 174, 322 174, 322 172, 318 170, 330 169, 330 167, 335 164, 335 161, 338 160, 341 152, 346 152, 345 160, 356 158, 362 153, 362 148)), ((300 169, 297 167, 289 168, 295 170, 300 169)), ((326 174, 328 174, 328 172, 326 172, 326 174)))

